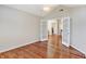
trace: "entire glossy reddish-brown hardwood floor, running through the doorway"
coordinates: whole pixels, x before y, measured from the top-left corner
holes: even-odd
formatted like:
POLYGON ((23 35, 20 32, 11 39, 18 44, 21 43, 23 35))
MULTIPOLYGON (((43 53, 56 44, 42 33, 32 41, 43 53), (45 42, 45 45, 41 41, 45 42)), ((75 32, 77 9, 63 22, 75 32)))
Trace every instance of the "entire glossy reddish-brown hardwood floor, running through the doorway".
POLYGON ((61 44, 60 36, 0 53, 0 59, 85 59, 74 48, 61 44))

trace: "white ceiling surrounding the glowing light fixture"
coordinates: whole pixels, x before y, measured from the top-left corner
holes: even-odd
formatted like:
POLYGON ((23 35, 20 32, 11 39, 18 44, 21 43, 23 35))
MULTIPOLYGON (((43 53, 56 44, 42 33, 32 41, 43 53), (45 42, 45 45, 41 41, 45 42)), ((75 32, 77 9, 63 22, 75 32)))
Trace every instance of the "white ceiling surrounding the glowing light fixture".
MULTIPOLYGON (((24 12, 27 12, 27 13, 32 13, 32 14, 35 14, 35 15, 38 15, 38 16, 45 16, 45 15, 50 13, 50 12, 44 11, 44 7, 46 7, 46 5, 51 8, 50 12, 60 8, 60 5, 58 5, 58 4, 7 4, 7 7, 14 8, 14 9, 17 9, 17 10, 21 10, 21 11, 24 11, 24 12)), ((74 7, 78 7, 78 5, 73 5, 73 4, 67 5, 66 4, 66 5, 63 5, 63 7, 74 8, 74 7)))

